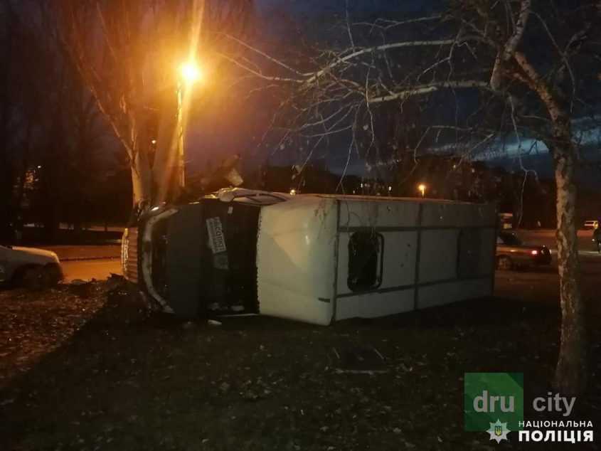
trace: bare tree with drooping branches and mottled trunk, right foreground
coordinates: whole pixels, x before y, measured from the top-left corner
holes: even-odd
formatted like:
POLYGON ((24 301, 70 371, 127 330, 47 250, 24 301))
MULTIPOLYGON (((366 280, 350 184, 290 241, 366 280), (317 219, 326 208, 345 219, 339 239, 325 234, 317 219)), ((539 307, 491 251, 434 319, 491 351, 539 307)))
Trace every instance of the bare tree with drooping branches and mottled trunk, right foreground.
POLYGON ((598 1, 574 8, 558 1, 452 1, 426 17, 353 23, 347 14, 347 44, 327 46, 302 70, 251 46, 252 60, 233 61, 257 80, 286 86, 277 145, 301 137, 312 143, 307 160, 324 140, 341 135, 349 142, 347 166, 353 153, 368 164, 386 152, 415 159, 432 147, 469 159, 505 154, 509 144, 520 154, 528 152, 527 140, 543 142, 557 186, 563 322, 555 386, 565 393, 583 391, 588 374, 575 225, 583 142, 574 124, 590 117, 598 127, 600 25, 598 1), (407 108, 415 114, 404 114, 407 108), (401 128, 419 131, 402 148, 378 132, 391 114, 401 128))

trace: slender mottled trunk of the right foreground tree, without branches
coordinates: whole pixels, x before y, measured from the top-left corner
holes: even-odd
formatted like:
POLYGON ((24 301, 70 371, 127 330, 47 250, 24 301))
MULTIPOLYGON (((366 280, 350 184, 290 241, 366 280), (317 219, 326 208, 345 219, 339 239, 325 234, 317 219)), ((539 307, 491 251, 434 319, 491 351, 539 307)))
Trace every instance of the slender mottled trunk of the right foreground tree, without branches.
POLYGON ((580 264, 575 225, 575 152, 569 122, 558 125, 553 149, 557 183, 557 248, 561 299, 561 341, 555 388, 560 393, 582 393, 587 383, 585 305, 580 294, 580 264))

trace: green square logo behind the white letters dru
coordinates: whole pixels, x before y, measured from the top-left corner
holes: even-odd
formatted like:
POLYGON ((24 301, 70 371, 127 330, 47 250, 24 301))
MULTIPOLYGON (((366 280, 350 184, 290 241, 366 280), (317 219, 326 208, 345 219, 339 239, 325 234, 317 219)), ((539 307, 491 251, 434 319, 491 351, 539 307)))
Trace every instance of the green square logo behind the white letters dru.
POLYGON ((523 421, 523 373, 465 373, 465 430, 483 432, 491 423, 520 430, 523 421))

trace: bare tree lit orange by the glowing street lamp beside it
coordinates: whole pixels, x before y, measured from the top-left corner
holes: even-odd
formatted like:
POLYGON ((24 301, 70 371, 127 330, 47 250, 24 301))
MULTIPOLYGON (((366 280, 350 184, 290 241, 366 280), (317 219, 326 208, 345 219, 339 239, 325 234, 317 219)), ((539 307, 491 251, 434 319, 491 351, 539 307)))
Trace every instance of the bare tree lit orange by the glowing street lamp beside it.
MULTIPOLYGON (((240 36, 251 6, 250 0, 56 2, 65 49, 127 151, 134 204, 164 201, 174 191, 178 66, 198 59, 204 71, 215 70, 214 53, 226 51, 219 33, 240 36), (149 131, 156 117, 161 131, 149 131)), ((189 92, 184 97, 185 107, 189 92)))

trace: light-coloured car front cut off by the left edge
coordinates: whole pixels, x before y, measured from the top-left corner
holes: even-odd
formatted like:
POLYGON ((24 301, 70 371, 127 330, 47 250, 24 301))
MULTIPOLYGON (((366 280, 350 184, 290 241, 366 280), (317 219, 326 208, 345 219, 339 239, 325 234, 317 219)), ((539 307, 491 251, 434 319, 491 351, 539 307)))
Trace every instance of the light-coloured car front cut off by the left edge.
POLYGON ((0 285, 40 288, 55 285, 62 279, 63 271, 55 253, 0 245, 0 285))

